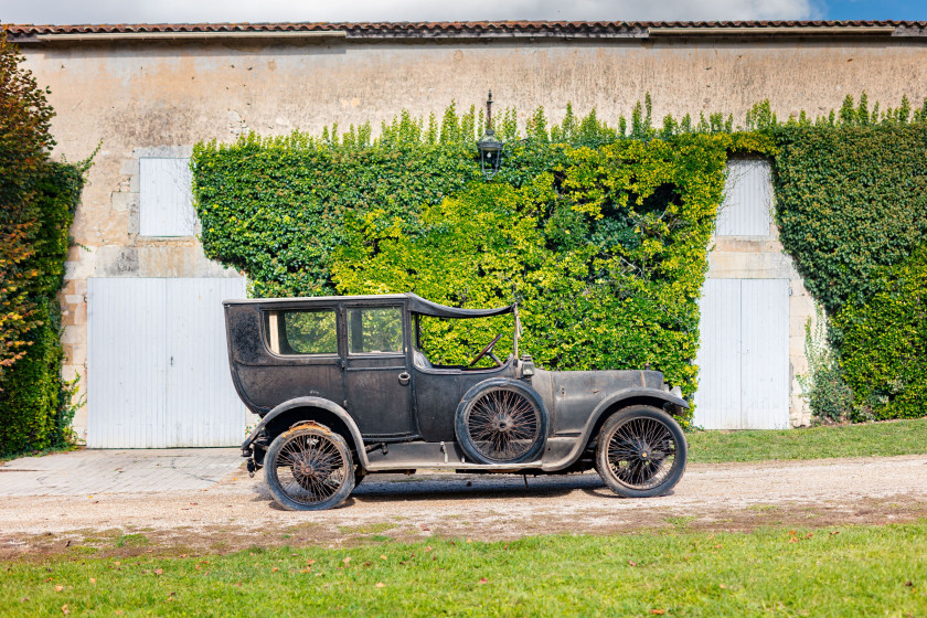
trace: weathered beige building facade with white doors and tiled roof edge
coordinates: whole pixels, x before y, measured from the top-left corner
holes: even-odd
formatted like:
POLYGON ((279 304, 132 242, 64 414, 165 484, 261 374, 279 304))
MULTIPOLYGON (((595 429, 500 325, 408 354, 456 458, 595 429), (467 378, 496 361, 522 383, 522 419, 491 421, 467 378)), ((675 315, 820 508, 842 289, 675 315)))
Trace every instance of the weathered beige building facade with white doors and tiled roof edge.
MULTIPOLYGON (((490 88, 522 120, 539 106, 558 120, 571 102, 612 125, 648 93, 657 119, 722 111, 735 124, 767 98, 780 117, 813 117, 848 94, 883 108, 927 95, 927 22, 12 25, 8 36, 51 89, 55 154, 100 147, 62 295, 65 376, 88 394, 74 425, 90 446, 234 444, 247 422, 219 309, 245 281, 196 239, 185 162, 200 140, 440 116, 490 88)), ((732 162, 729 183, 702 300, 696 424, 801 425, 813 303, 769 216, 768 163, 732 162), (736 390, 713 377, 729 372, 736 390)))

